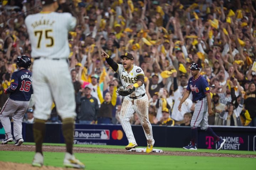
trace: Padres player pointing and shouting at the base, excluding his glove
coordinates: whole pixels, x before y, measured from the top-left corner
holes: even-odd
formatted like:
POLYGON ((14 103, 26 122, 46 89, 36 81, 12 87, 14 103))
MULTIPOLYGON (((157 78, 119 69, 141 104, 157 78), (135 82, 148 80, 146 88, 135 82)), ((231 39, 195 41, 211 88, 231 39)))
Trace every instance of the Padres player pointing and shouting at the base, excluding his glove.
POLYGON ((129 142, 125 148, 130 150, 138 146, 133 135, 132 126, 129 122, 133 113, 136 112, 139 115, 146 140, 148 141, 146 153, 152 152, 155 141, 153 139, 152 126, 148 117, 149 101, 148 96, 145 95, 145 75, 143 70, 138 66, 133 66, 133 55, 130 53, 126 52, 121 56, 123 59, 122 64, 114 62, 105 52, 103 52, 101 56, 106 58, 106 61, 111 68, 119 74, 123 86, 130 89, 135 87, 135 91, 132 94, 124 97, 120 112, 121 125, 129 142))

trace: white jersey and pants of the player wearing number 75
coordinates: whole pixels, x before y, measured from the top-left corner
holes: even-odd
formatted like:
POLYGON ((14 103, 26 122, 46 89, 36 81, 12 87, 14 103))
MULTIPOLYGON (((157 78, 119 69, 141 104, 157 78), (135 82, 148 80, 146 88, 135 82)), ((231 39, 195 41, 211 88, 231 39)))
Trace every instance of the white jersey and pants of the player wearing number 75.
POLYGON ((68 31, 76 25, 70 13, 37 13, 25 19, 33 62, 34 117, 47 120, 52 102, 62 119, 75 118, 74 87, 66 59, 68 31))

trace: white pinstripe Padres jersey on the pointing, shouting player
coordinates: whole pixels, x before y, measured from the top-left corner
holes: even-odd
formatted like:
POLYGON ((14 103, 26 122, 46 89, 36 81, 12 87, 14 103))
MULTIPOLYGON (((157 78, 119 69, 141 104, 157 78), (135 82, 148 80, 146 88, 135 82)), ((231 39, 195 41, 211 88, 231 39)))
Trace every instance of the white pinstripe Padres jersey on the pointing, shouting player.
MULTIPOLYGON (((125 87, 136 83, 138 75, 143 75, 145 77, 142 68, 140 68, 138 66, 132 66, 132 69, 128 73, 122 64, 118 64, 117 73, 119 74, 119 76, 121 78, 122 85, 125 87)), ((146 90, 145 90, 145 86, 143 84, 142 86, 136 88, 135 91, 132 94, 130 94, 129 96, 130 97, 141 96, 141 95, 145 94, 145 92, 146 92, 146 90)))

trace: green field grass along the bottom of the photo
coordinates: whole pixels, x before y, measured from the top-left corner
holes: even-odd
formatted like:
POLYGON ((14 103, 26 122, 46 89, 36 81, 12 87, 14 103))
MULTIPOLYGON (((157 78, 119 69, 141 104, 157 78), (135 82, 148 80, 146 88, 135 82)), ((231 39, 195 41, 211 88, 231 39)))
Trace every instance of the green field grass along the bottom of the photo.
MULTIPOLYGON (((22 147, 26 145, 32 146, 34 143, 25 142, 22 147)), ((65 145, 44 143, 44 146, 46 148, 58 148, 65 145)), ((86 169, 88 170, 255 170, 256 168, 256 152, 252 151, 215 151, 210 149, 187 151, 182 148, 155 147, 155 149, 162 149, 163 152, 184 153, 184 155, 166 155, 161 153, 141 154, 136 152, 131 154, 128 151, 126 151, 127 154, 125 151, 119 154, 118 152, 100 153, 100 150, 113 149, 115 151, 116 149, 118 151, 118 149, 124 149, 124 146, 74 145, 74 147, 78 149, 76 151, 84 148, 97 150, 97 153, 78 153, 74 151, 76 158, 85 163, 86 169), (203 153, 203 156, 197 156, 197 153, 203 153), (229 157, 229 154, 232 156, 229 157), (247 157, 245 155, 249 156, 247 157)), ((1 162, 31 164, 33 155, 33 151, 2 151, 0 147, 1 162)), ((44 165, 63 167, 63 158, 64 152, 44 152, 44 165)))

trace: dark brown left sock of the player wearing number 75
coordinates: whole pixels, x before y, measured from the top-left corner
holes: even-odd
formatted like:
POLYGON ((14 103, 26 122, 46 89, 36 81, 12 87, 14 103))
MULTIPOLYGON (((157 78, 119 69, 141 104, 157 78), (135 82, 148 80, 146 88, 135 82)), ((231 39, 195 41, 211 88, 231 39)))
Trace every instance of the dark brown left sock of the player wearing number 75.
POLYGON ((35 119, 33 125, 33 134, 34 134, 34 142, 36 143, 36 152, 42 152, 42 144, 44 140, 44 135, 46 131, 45 126, 46 120, 35 119))

